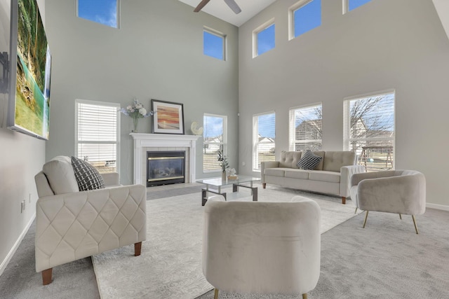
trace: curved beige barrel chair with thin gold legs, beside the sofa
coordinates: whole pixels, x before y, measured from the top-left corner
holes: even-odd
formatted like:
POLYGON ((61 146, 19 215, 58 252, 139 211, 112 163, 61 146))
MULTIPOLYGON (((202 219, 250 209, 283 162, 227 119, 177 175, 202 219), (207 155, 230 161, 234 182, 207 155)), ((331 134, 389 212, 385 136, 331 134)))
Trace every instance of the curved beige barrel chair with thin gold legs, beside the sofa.
POLYGON ((415 215, 426 211, 426 179, 414 170, 386 170, 366 172, 351 176, 349 189, 357 209, 366 211, 365 228, 369 211, 411 215, 418 233, 415 215))

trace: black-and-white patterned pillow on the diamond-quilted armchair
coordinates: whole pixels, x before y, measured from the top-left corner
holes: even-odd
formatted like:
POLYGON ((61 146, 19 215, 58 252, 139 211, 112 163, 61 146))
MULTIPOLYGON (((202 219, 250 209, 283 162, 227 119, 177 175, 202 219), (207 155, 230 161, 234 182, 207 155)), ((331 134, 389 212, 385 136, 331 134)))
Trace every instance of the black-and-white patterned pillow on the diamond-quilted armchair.
POLYGON ((80 191, 105 188, 100 172, 88 162, 72 157, 72 167, 80 191))

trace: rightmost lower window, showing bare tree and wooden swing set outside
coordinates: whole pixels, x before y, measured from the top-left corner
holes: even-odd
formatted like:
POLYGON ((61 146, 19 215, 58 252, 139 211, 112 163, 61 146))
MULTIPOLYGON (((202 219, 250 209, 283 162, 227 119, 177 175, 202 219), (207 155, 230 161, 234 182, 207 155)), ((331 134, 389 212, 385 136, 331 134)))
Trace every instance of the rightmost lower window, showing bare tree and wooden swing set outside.
POLYGON ((344 101, 344 149, 368 171, 394 169, 394 92, 344 101))

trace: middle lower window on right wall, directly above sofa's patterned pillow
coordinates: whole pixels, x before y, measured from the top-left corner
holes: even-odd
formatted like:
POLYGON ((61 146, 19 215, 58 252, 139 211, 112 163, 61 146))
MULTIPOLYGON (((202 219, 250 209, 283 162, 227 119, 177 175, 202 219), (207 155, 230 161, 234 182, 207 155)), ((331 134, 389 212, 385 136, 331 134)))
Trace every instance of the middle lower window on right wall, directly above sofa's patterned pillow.
POLYGON ((290 151, 319 151, 321 149, 321 103, 290 109, 290 151))

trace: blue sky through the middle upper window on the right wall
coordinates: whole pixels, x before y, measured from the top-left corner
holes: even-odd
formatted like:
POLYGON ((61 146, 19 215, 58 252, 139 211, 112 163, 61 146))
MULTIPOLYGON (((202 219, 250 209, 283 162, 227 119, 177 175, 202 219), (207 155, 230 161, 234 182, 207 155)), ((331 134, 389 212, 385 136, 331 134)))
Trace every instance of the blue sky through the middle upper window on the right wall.
POLYGON ((295 37, 321 25, 321 0, 310 1, 294 13, 295 37))

